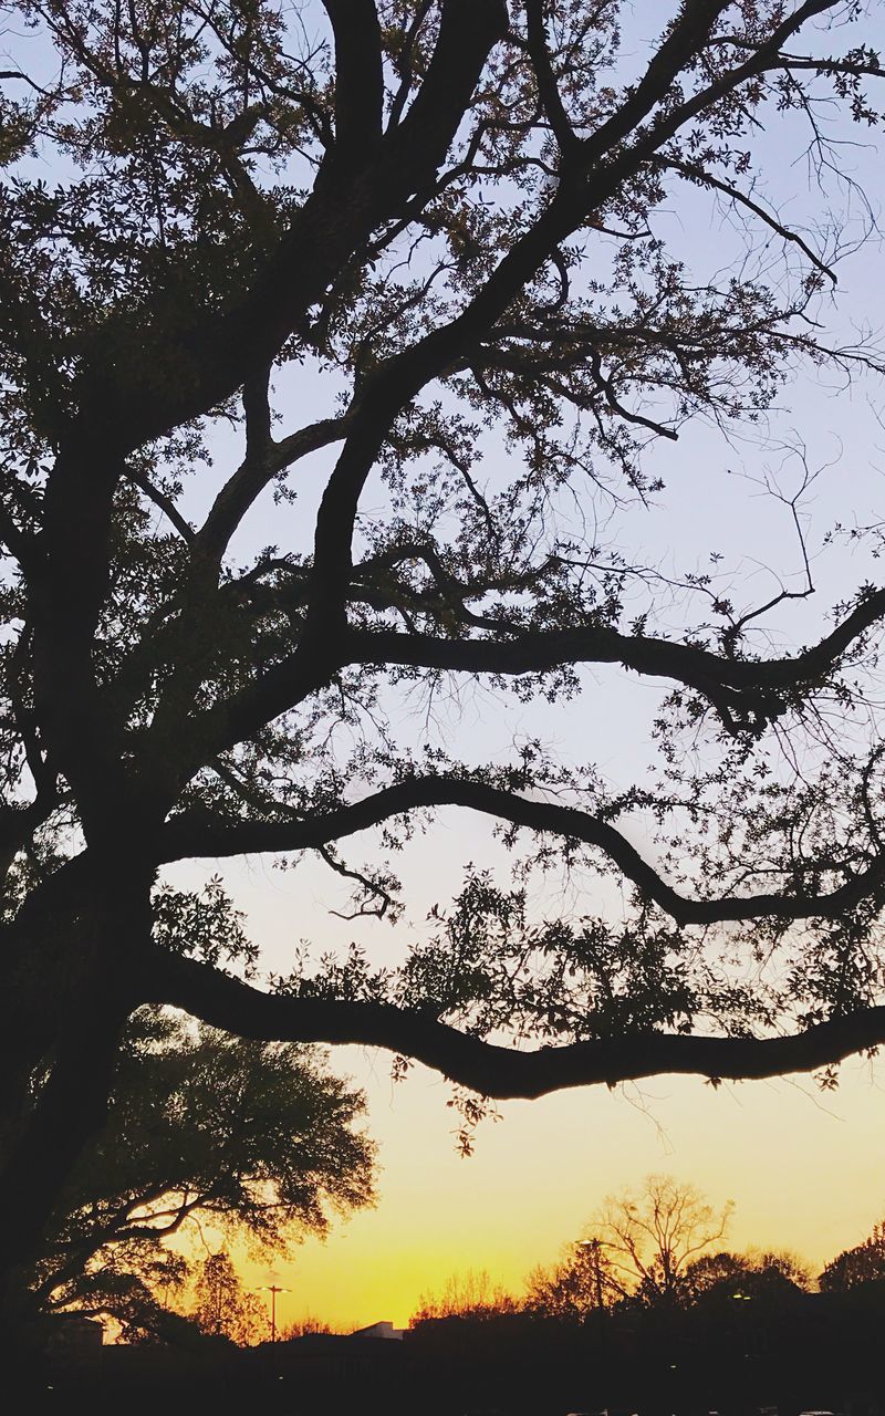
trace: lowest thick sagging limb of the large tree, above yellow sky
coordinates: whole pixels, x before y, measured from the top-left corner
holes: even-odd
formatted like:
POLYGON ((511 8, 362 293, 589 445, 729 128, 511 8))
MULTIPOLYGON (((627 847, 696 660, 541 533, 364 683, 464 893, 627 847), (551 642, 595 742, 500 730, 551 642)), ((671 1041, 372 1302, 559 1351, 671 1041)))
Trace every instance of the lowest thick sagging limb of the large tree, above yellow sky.
POLYGON ((149 994, 152 1003, 184 1008, 242 1038, 387 1048, 500 1100, 663 1073, 742 1080, 814 1072, 885 1042, 885 1008, 867 1008, 779 1038, 647 1032, 517 1052, 392 1004, 261 993, 208 964, 173 954, 157 960, 149 994))

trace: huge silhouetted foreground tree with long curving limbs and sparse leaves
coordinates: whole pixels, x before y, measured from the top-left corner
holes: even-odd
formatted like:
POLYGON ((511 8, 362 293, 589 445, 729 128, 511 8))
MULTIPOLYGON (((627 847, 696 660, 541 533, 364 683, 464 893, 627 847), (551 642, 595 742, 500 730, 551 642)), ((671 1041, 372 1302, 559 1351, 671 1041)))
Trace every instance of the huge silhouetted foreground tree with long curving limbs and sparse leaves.
POLYGON ((875 362, 826 334, 854 234, 787 221, 763 129, 821 183, 838 115, 875 130, 879 6, 674 0, 651 40, 616 0, 14 10, 3 1266, 37 1250, 146 1003, 496 1097, 881 1042, 885 590, 773 651, 758 630, 810 582, 753 603, 692 571, 680 617, 610 520, 660 493, 650 445, 690 419, 762 429, 803 361, 875 362), (677 201, 731 214, 731 273, 671 244, 677 201), (302 490, 303 537, 249 549, 255 506, 302 490), (552 712, 600 664, 667 687, 661 777, 609 790, 534 742, 472 763, 398 732, 446 675, 552 712), (834 704, 868 716, 843 735, 834 704), (535 878, 566 862, 585 903, 541 919, 524 881, 473 874, 402 969, 355 950, 266 991, 157 895, 177 861, 317 852, 391 918, 384 851, 442 807, 535 878), (348 862, 367 830, 382 852, 348 862))

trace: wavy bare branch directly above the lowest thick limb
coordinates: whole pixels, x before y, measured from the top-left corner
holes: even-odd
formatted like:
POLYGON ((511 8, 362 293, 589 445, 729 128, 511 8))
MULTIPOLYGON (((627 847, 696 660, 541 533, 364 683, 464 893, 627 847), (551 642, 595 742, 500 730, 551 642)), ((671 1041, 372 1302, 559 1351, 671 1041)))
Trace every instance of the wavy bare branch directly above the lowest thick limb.
POLYGON ((714 925, 724 920, 838 916, 885 885, 885 857, 877 857, 867 869, 858 871, 844 885, 824 893, 792 895, 786 891, 772 891, 759 895, 691 899, 668 885, 626 835, 602 817, 554 801, 530 800, 484 782, 446 776, 412 777, 375 792, 353 806, 343 806, 300 821, 227 821, 197 813, 183 814, 160 833, 157 864, 197 855, 317 850, 330 841, 379 826, 394 816, 430 806, 460 806, 523 826, 530 831, 549 831, 596 847, 643 895, 683 926, 714 925))

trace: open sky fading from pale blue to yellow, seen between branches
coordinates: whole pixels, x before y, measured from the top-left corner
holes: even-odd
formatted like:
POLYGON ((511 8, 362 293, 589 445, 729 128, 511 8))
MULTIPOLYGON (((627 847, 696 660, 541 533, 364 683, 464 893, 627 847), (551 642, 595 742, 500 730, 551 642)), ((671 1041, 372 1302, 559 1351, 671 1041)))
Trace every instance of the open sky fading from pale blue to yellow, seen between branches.
MULTIPOLYGON (((820 208, 820 194, 809 194, 804 167, 793 164, 789 129, 790 120, 779 118, 767 144, 780 208, 799 219, 820 208)), ((875 152, 851 147, 841 160, 875 198, 881 183, 875 152)), ((857 235, 862 210, 855 215, 857 235)), ((709 269, 728 262, 732 238, 721 214, 707 208, 701 214, 687 197, 660 219, 692 261, 709 269)), ((841 268, 838 304, 828 307, 837 337, 851 337, 852 326, 885 327, 881 258, 874 235, 841 268)), ((282 432, 304 419, 299 405, 316 416, 313 399, 320 392, 310 382, 286 379, 282 432)), ((801 440, 813 469, 831 463, 803 504, 817 595, 777 613, 772 643, 817 637, 823 616, 840 598, 867 578, 881 581, 881 562, 869 561, 868 552, 835 547, 823 554, 821 545, 834 523, 881 515, 885 433, 877 411, 882 402, 875 378, 847 389, 831 375, 803 374, 787 387, 756 442, 729 446, 708 428, 688 429, 675 447, 653 450, 650 464, 666 477, 667 491, 651 511, 636 508, 622 521, 624 544, 637 558, 673 572, 701 569, 711 549, 721 551, 742 578, 745 603, 763 602, 776 588, 769 568, 789 579, 801 571, 801 558, 789 513, 746 479, 776 473, 792 490, 799 463, 784 462, 777 443, 801 440)), ((297 544, 303 537, 320 486, 313 466, 297 472, 295 508, 265 508, 248 532, 252 547, 269 539, 286 545, 289 535, 297 544)), ((367 497, 372 494, 370 487, 367 497)), ((674 626, 680 619, 674 607, 674 626)), ((436 731, 443 739, 457 733, 457 750, 469 760, 507 756, 514 736, 539 732, 566 760, 592 753, 612 782, 626 786, 653 756, 650 725, 661 688, 615 668, 588 673, 585 684, 579 701, 555 709, 514 702, 504 709, 481 687, 466 685, 456 704, 440 702, 436 731)), ((402 708, 401 724, 421 736, 413 702, 402 708)), ((360 838, 348 858, 358 862, 371 850, 371 838, 360 838)), ((224 875, 266 949, 265 966, 285 971, 300 939, 310 939, 317 953, 360 939, 374 959, 394 960, 408 940, 409 922, 419 927, 429 905, 450 896, 463 865, 494 858, 484 823, 440 813, 432 837, 411 844, 398 861, 409 905, 398 935, 331 918, 327 909, 341 906, 338 882, 316 862, 286 874, 268 861, 225 862, 224 875)), ((191 884, 204 874, 191 865, 170 872, 191 884)), ((283 1324, 307 1314, 341 1327, 381 1318, 405 1324, 422 1293, 439 1291, 450 1274, 470 1269, 489 1270, 493 1280, 518 1290, 534 1264, 552 1262, 581 1233, 607 1194, 654 1171, 691 1181, 714 1204, 733 1199, 735 1247, 789 1247, 816 1266, 860 1242, 885 1215, 885 1062, 847 1063, 835 1093, 818 1092, 810 1079, 724 1085, 714 1092, 700 1080, 663 1078, 615 1092, 581 1089, 503 1104, 501 1121, 480 1129, 472 1160, 456 1154, 456 1119, 439 1078, 416 1068, 392 1086, 385 1054, 353 1048, 338 1049, 333 1065, 368 1093, 381 1198, 372 1212, 337 1223, 326 1243, 309 1239, 293 1262, 275 1266, 278 1281, 292 1289, 279 1303, 283 1324)), ((269 1279, 265 1266, 244 1259, 242 1267, 251 1284, 269 1279)))

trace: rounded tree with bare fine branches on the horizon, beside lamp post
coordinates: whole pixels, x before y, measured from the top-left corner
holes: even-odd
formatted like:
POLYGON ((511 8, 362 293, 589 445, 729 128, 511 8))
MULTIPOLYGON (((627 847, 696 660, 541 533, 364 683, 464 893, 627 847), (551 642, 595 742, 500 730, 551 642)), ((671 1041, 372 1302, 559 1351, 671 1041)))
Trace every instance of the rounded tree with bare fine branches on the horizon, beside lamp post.
MULTIPOLYGON (((589 1236, 569 1245, 552 1270, 537 1269, 528 1307, 551 1317, 586 1317, 615 1303, 674 1304, 687 1297, 705 1263, 701 1257, 725 1233, 731 1202, 716 1212, 694 1185, 671 1175, 649 1175, 639 1194, 606 1199, 589 1236)), ((733 1259, 733 1263, 741 1260, 733 1259)))

